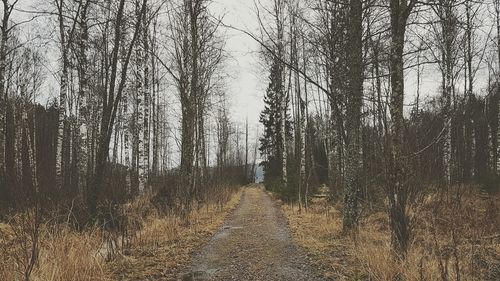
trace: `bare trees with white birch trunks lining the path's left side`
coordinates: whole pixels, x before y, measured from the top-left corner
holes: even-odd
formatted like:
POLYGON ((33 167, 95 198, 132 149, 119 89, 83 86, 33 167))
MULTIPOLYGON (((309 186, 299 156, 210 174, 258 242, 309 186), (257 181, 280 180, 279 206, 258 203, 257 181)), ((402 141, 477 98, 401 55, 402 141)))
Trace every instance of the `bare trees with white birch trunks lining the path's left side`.
POLYGON ((146 192, 187 213, 251 180, 210 1, 2 3, 4 213, 76 205, 85 224, 146 192))

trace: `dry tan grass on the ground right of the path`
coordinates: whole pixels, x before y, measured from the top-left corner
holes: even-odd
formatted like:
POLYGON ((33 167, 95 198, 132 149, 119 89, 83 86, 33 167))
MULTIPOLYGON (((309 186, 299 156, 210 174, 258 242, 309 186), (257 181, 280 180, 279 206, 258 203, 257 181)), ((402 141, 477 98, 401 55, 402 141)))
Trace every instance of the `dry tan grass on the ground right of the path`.
POLYGON ((500 280, 500 197, 469 192, 460 200, 429 196, 412 213, 414 237, 404 262, 390 249, 388 219, 362 219, 355 239, 341 235, 340 206, 317 201, 308 212, 283 206, 295 241, 335 280, 500 280), (458 274, 457 274, 458 273, 458 274), (459 275, 459 276, 457 276, 459 275), (457 278, 459 277, 459 278, 457 278))

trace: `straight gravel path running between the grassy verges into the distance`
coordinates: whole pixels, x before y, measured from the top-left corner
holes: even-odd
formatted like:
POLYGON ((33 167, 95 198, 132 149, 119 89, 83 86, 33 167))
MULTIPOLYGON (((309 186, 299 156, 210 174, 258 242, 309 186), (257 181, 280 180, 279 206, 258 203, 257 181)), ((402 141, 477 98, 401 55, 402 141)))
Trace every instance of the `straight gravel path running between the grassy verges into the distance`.
POLYGON ((293 244, 281 211, 262 188, 252 187, 180 280, 319 279, 293 244))

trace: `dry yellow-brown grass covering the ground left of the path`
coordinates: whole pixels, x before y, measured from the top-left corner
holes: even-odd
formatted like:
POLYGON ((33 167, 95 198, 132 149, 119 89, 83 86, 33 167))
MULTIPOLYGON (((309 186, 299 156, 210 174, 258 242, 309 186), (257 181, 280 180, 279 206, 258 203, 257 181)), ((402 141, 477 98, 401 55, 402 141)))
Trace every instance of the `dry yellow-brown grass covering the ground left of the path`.
MULTIPOLYGON (((241 191, 223 207, 208 204, 191 212, 189 224, 178 216, 160 214, 147 197, 123 206, 126 231, 95 228, 78 232, 64 225, 41 224, 39 255, 30 280, 175 279, 191 253, 223 224, 240 197, 241 191)), ((12 221, 0 224, 0 280, 25 280, 32 239, 16 228, 12 221)))

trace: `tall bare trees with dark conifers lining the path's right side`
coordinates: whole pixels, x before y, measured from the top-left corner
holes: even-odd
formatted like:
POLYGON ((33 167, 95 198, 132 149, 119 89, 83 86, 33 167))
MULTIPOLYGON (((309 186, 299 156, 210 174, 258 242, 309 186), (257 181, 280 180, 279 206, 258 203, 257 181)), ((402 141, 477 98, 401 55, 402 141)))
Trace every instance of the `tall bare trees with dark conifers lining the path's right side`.
POLYGON ((387 210, 404 259, 423 195, 499 190, 499 1, 301 1, 256 6, 269 80, 265 183, 307 208, 322 184, 343 229, 387 210), (435 81, 435 82, 432 82, 435 81))

